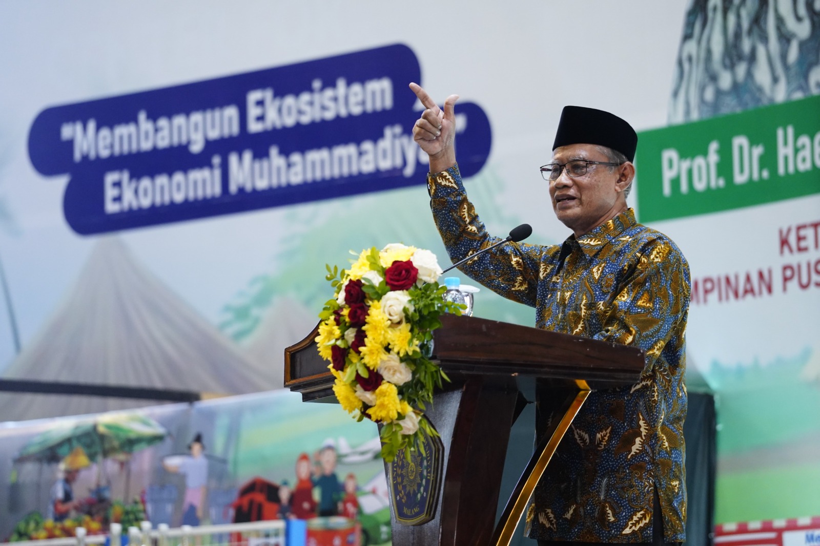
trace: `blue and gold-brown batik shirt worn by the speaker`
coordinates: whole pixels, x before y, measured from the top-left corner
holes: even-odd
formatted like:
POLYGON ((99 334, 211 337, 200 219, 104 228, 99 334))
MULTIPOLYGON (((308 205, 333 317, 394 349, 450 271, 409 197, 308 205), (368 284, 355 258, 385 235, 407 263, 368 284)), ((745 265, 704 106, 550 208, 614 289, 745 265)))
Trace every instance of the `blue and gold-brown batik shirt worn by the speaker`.
MULTIPOLYGON (((458 166, 428 175, 430 207, 453 262, 499 241, 487 234, 458 166)), ((664 539, 685 540, 684 330, 689 266, 665 235, 628 209, 563 244, 505 243, 461 267, 535 324, 645 351, 631 386, 590 393, 535 489, 533 539, 651 542, 654 489, 664 539)), ((539 402, 539 404, 542 402, 539 402)))

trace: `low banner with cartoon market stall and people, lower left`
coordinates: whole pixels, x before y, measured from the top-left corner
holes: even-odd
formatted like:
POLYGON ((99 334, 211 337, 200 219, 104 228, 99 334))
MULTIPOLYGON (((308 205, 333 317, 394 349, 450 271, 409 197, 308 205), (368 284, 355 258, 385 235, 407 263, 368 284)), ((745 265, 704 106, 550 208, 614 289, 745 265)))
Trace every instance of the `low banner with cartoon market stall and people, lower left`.
POLYGON ((284 390, 30 421, 0 438, 0 472, 11 476, 0 485, 3 541, 142 519, 205 525, 330 511, 362 521, 370 544, 389 542, 376 425, 284 390), (78 505, 61 513, 66 488, 78 505))

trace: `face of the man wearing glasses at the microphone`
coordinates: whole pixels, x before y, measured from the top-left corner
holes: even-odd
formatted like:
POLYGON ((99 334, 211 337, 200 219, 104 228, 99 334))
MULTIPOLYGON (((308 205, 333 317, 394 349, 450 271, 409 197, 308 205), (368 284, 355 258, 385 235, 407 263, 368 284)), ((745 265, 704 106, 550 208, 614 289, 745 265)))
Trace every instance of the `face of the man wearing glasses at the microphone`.
MULTIPOLYGON (((609 161, 594 144, 570 144, 553 151, 553 163, 563 165, 576 159, 609 161)), ((549 182, 549 197, 555 216, 576 236, 588 233, 617 216, 626 208, 622 191, 616 191, 628 185, 628 182, 619 181, 622 170, 622 167, 610 171, 607 165, 589 165, 585 175, 572 177, 567 175, 566 169, 562 169, 561 175, 549 182)))

